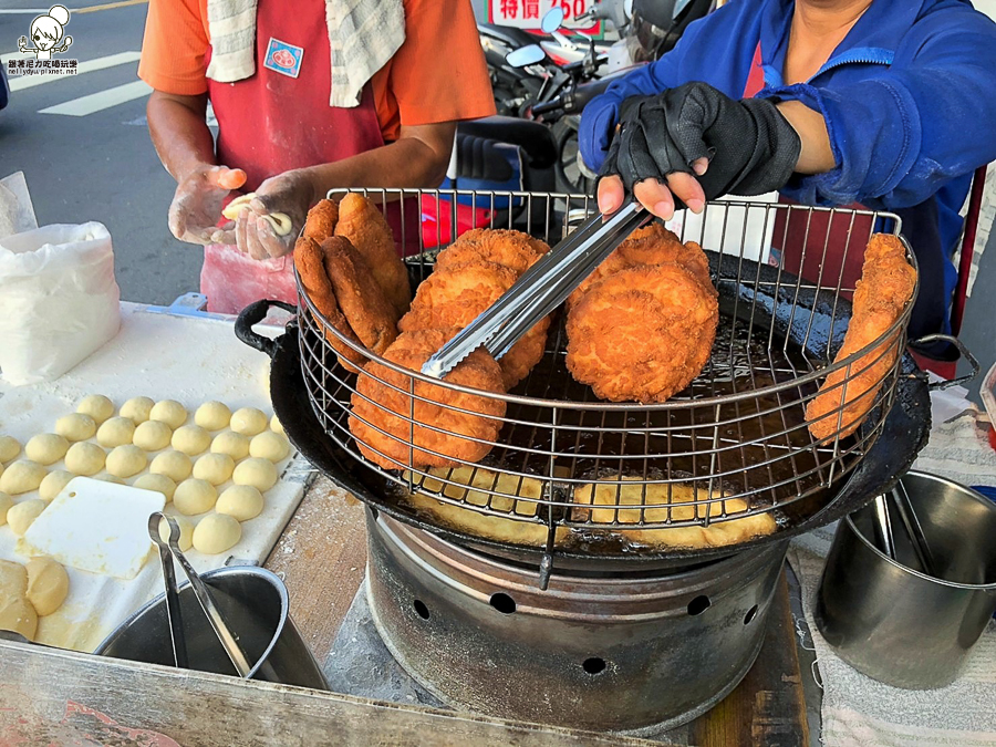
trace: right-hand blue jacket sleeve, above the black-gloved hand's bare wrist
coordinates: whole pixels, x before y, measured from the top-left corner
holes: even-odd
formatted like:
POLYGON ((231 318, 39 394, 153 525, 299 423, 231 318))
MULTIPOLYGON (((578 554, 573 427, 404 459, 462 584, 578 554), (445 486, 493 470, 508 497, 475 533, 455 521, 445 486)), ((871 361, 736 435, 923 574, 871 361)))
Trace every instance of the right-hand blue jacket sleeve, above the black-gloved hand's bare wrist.
POLYGON ((795 176, 788 195, 808 205, 912 207, 996 159, 996 24, 965 18, 946 25, 876 77, 762 94, 822 113, 838 164, 795 176))

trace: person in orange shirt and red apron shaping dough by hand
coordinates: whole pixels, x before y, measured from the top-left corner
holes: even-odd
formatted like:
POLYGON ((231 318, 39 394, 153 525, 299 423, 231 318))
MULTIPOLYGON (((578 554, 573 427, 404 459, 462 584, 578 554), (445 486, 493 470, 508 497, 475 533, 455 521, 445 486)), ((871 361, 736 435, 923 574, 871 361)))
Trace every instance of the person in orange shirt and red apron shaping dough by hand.
MULTIPOLYGON (((153 143, 177 180, 169 229, 181 241, 205 245, 201 292, 208 309, 222 313, 260 298, 297 300, 290 253, 308 209, 329 189, 438 186, 456 122, 495 113, 469 0, 384 0, 374 7, 383 15, 376 19, 350 19, 357 3, 346 0, 236 4, 152 0, 138 68, 155 89, 147 108, 153 143), (400 37, 396 23, 384 20, 392 4, 404 27, 400 37), (232 33, 239 15, 229 15, 241 9, 245 17, 253 6, 255 22, 232 33), (371 43, 394 34, 400 46, 381 66, 356 60, 362 50, 353 51, 350 34, 336 37, 336 13, 362 25, 381 23, 367 32, 371 43), (252 44, 251 74, 212 77, 219 62, 212 59, 228 62, 232 45, 253 31, 246 42, 252 44), (341 84, 349 74, 352 82, 364 65, 374 70, 357 86, 356 101, 331 105, 333 76, 341 84), (217 142, 206 122, 208 102, 217 142), (256 199, 226 221, 221 209, 238 194, 232 189, 256 193, 256 199), (291 220, 282 236, 266 219, 277 212, 291 220)), ((402 211, 416 232, 417 205, 408 207, 390 216, 396 234, 402 211)))

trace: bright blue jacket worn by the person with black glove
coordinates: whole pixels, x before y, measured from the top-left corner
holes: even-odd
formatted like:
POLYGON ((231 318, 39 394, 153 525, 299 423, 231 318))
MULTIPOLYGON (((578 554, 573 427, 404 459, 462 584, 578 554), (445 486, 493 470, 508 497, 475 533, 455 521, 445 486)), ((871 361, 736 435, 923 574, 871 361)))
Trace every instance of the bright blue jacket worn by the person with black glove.
POLYGON ((785 85, 792 8, 790 0, 734 0, 691 24, 672 52, 589 103, 581 154, 601 166, 629 96, 704 81, 740 98, 759 43, 758 97, 821 112, 838 164, 793 175, 781 194, 898 212, 921 266, 911 334, 947 331, 958 210, 972 172, 996 159, 996 24, 964 0, 873 0, 816 75, 785 85))

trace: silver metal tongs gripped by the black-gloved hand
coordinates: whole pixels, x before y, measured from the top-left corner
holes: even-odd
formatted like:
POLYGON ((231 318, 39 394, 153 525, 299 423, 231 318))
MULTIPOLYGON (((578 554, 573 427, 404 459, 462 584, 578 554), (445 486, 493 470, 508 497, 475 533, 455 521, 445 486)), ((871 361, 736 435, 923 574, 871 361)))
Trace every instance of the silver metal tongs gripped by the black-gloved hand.
POLYGON ((442 378, 484 345, 496 359, 505 355, 653 216, 630 200, 610 216, 595 214, 539 261, 477 319, 458 332, 422 366, 426 376, 442 378))

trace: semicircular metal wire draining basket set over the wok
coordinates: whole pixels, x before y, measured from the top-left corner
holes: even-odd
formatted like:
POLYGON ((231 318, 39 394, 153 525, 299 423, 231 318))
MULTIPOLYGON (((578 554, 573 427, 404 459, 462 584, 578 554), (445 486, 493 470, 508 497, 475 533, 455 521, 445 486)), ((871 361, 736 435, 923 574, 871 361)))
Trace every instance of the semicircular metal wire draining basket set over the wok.
MULTIPOLYGON (((416 283, 432 272, 436 251, 457 235, 460 211, 487 210, 490 227, 528 230, 553 245, 571 224, 595 209, 590 197, 562 194, 355 191, 395 214, 395 238, 409 255, 406 262, 416 283), (419 226, 433 221, 435 236, 419 226)), ((587 537, 601 530, 705 527, 765 512, 780 519, 787 507, 828 491, 854 469, 892 406, 912 301, 878 340, 845 360, 832 359, 850 319, 849 299, 864 247, 873 231, 899 235, 900 220, 884 212, 717 201, 702 217, 688 215, 672 227, 683 241, 697 241, 709 253, 720 290, 720 322, 705 370, 667 402, 596 400, 567 371, 566 333, 556 319, 543 359, 511 393, 480 393, 438 382, 340 334, 299 281, 302 373, 322 428, 360 464, 396 486, 401 501, 422 496, 438 501, 434 505, 535 525, 539 532, 512 535, 512 542, 542 544, 529 538, 552 541, 560 528, 587 537), (789 232, 805 235, 805 247, 799 256, 784 258, 781 267, 772 267, 769 247, 786 246, 789 232), (841 261, 831 261, 828 252, 836 234, 845 243, 841 261), (330 335, 404 375, 412 404, 406 417, 409 455, 415 452, 414 403, 423 400, 415 393, 416 382, 504 400, 506 415, 489 455, 480 464, 432 470, 413 465, 411 458, 395 460, 396 469, 365 459, 347 425, 357 376, 339 363, 326 341, 330 335), (803 408, 824 377, 842 371, 845 394, 849 383, 853 386, 855 376, 878 361, 888 361, 888 369, 861 428, 852 436, 841 437, 834 429, 830 437, 815 439, 803 408), (612 486, 615 500, 595 501, 587 487, 595 481, 612 486), (632 499, 634 484, 640 486, 637 500, 632 499), (681 501, 679 489, 685 491, 681 501)), ((909 247, 907 258, 915 267, 909 247)), ((378 429, 376 423, 367 424, 378 429)))

